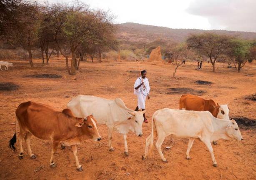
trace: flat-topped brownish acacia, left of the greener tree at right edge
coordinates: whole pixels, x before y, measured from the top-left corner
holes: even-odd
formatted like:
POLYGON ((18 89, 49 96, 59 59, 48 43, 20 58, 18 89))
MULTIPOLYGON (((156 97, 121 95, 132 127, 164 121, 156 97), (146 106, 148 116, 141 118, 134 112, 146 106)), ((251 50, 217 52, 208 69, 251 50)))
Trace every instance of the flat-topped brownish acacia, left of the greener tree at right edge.
POLYGON ((210 58, 213 66, 213 72, 215 72, 215 62, 225 54, 230 47, 231 37, 226 35, 216 35, 213 33, 203 33, 198 35, 190 35, 186 42, 188 47, 196 50, 202 55, 206 55, 210 58))

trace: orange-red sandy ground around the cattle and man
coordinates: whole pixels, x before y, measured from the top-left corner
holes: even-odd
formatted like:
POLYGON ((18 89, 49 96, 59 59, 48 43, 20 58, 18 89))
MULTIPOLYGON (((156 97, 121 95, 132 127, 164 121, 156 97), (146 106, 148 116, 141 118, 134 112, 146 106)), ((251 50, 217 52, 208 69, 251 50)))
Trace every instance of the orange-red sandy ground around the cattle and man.
MULTIPOLYGON (((166 138, 163 152, 168 163, 162 163, 154 148, 153 154, 145 161, 141 160, 145 139, 151 131, 151 115, 158 109, 169 107, 178 109, 182 93, 170 94, 168 88, 186 87, 194 89, 206 99, 213 98, 220 104, 229 103, 230 117, 245 116, 256 119, 256 102, 245 100, 245 95, 256 93, 256 64, 246 65, 238 73, 236 69, 228 69, 227 65, 217 64, 216 72, 211 72, 211 65, 203 63, 203 70, 195 70, 196 62, 178 67, 176 78, 173 78, 174 65, 141 63, 141 68, 148 71, 151 85, 151 99, 146 102, 146 116, 150 120, 143 124, 143 137, 128 134, 129 156, 123 151, 123 138, 114 133, 114 152, 108 151, 107 129, 99 127, 102 136, 100 143, 86 140, 79 145, 78 158, 83 165, 83 172, 78 172, 75 159, 70 148, 60 150, 56 157, 57 168, 51 169, 51 142, 35 137, 31 140, 31 148, 37 156, 36 160, 28 157, 25 143, 24 159, 18 159, 18 153, 8 149, 8 141, 15 128, 15 110, 21 102, 32 100, 51 105, 58 110, 66 107, 67 102, 79 94, 95 95, 114 99, 120 97, 126 106, 136 107, 136 96, 133 95, 133 83, 136 80, 134 70, 136 62, 81 62, 80 70, 75 76, 67 75, 63 58, 54 57, 50 65, 42 65, 34 60, 35 67, 28 62, 11 61, 14 67, 8 71, 0 71, 0 82, 12 82, 20 86, 18 90, 0 91, 0 179, 107 179, 107 180, 253 180, 256 179, 256 129, 240 128, 244 140, 219 140, 214 145, 214 154, 218 168, 213 167, 211 155, 205 145, 196 140, 192 149, 192 160, 185 159, 187 139, 166 138), (131 72, 128 72, 131 71, 131 72), (61 78, 27 77, 35 74, 57 74, 61 78), (125 82, 128 78, 130 80, 125 82), (211 85, 198 85, 196 80, 213 82, 211 85), (202 93, 202 91, 205 91, 202 93), (166 150, 166 146, 172 146, 166 150)), ((16 144, 17 147, 17 144, 16 144)), ((19 150, 19 148, 18 148, 19 150)))

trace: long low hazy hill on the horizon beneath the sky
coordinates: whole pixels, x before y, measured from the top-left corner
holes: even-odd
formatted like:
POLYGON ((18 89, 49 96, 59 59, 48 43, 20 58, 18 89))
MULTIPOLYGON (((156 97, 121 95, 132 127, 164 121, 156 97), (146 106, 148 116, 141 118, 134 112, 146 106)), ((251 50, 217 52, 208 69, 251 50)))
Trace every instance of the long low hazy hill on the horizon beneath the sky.
POLYGON ((188 35, 193 33, 214 32, 217 34, 226 34, 238 36, 244 39, 256 39, 256 32, 240 32, 227 30, 198 30, 198 29, 171 29, 153 25, 142 25, 137 23, 117 24, 117 37, 123 43, 149 43, 154 40, 163 40, 166 42, 182 42, 188 35))

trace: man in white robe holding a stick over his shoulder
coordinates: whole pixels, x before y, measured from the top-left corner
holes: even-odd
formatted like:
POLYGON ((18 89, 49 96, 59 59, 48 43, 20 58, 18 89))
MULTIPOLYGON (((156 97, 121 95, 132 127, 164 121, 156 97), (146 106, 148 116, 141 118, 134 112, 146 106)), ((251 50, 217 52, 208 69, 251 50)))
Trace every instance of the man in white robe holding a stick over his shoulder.
MULTIPOLYGON (((146 97, 149 97, 149 91, 150 86, 148 82, 148 78, 146 78, 147 71, 143 70, 141 71, 141 77, 138 77, 138 79, 134 83, 134 94, 138 97, 138 105, 135 109, 135 111, 141 109, 145 110, 145 103, 146 103, 146 97)), ((146 119, 145 113, 143 114, 144 122, 148 123, 148 120, 146 119)))

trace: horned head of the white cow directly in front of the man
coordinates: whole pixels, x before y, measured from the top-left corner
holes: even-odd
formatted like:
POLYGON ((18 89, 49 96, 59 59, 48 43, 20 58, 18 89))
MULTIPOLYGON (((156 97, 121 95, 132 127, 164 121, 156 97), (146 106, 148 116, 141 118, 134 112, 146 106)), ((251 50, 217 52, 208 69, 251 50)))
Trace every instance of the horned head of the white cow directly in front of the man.
POLYGON ((129 114, 132 115, 132 117, 129 117, 131 120, 131 125, 136 133, 137 136, 142 136, 142 124, 144 121, 143 114, 146 112, 146 110, 143 111, 128 111, 129 114))

